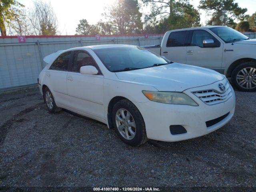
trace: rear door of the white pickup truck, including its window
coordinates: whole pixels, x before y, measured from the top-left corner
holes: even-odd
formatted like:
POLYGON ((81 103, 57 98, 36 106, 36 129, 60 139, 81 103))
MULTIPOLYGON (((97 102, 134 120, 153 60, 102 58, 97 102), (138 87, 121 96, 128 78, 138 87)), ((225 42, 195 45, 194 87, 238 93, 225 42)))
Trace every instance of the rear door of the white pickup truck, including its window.
POLYGON ((166 44, 162 44, 161 55, 172 62, 186 64, 185 39, 187 33, 187 30, 171 32, 166 44))

